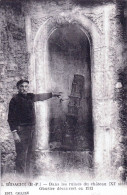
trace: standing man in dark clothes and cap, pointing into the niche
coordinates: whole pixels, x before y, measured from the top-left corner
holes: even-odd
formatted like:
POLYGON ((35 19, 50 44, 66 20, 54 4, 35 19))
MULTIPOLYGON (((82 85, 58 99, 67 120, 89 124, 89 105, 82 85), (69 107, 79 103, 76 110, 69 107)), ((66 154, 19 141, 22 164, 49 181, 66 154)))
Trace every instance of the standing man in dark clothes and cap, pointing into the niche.
POLYGON ((30 167, 32 141, 36 124, 34 102, 60 97, 60 93, 28 93, 28 88, 28 80, 18 81, 18 94, 11 99, 9 104, 8 123, 16 146, 17 173, 26 173, 30 167))

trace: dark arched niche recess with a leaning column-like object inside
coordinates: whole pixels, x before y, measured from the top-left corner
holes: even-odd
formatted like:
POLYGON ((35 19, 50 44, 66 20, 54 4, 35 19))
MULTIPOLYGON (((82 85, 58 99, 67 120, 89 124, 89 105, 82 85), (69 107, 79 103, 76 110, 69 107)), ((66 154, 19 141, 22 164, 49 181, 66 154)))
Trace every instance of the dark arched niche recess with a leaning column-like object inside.
POLYGON ((48 40, 53 91, 50 104, 51 150, 93 150, 90 43, 78 24, 64 24, 48 40))

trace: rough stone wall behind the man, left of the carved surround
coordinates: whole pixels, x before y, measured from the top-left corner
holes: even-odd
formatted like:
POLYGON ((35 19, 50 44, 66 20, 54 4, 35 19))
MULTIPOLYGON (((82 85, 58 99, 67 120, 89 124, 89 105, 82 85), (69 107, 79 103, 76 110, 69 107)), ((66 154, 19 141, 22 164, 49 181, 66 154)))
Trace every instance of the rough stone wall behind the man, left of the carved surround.
POLYGON ((28 77, 25 21, 20 3, 0 7, 0 124, 2 172, 15 168, 15 146, 7 123, 9 101, 17 93, 16 82, 28 77))

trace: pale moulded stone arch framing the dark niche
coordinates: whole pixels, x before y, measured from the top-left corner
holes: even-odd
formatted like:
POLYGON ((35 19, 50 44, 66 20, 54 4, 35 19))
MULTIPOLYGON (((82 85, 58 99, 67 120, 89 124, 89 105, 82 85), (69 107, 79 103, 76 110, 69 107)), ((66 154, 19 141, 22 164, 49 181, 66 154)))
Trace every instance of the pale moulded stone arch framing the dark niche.
MULTIPOLYGON (((50 35, 62 24, 65 23, 78 23, 80 29, 87 35, 91 46, 91 80, 92 80, 92 105, 93 105, 93 123, 94 123, 94 165, 103 168, 105 165, 105 150, 108 166, 110 166, 110 148, 106 149, 106 140, 109 139, 109 134, 104 129, 108 129, 107 121, 104 118, 105 106, 111 108, 111 99, 104 102, 105 89, 104 89, 104 66, 106 60, 104 56, 105 42, 102 40, 101 32, 97 26, 86 16, 81 16, 79 13, 64 13, 57 18, 50 17, 39 28, 35 39, 32 54, 31 72, 34 78, 35 92, 41 93, 51 91, 50 74, 48 70, 48 50, 47 43, 50 35), (104 61, 103 61, 104 60, 104 61), (45 82, 47 80, 48 82, 45 82), (100 85, 101 83, 101 85, 100 85), (101 103, 100 103, 101 100, 101 103), (101 136, 98 136, 101 135, 101 136), (103 144, 102 136, 105 139, 103 144), (101 146, 101 147, 100 147, 101 146), (100 148, 99 148, 100 147, 100 148)), ((106 58, 106 57, 105 57, 106 58)), ((112 86, 113 87, 113 86, 112 86)), ((48 137, 49 137, 49 106, 48 102, 37 103, 37 149, 42 151, 48 150, 48 137)), ((110 115, 110 114, 109 114, 110 115)), ((112 120, 112 118, 111 118, 112 120)), ((106 162, 106 163, 107 163, 106 162)))

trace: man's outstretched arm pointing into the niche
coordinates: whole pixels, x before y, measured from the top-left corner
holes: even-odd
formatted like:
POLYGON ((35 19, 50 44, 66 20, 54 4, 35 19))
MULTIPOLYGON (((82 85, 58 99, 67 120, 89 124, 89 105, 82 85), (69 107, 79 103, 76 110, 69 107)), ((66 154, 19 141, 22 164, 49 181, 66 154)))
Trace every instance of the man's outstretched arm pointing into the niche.
POLYGON ((44 101, 52 97, 60 97, 60 93, 40 93, 34 95, 34 101, 44 101))

